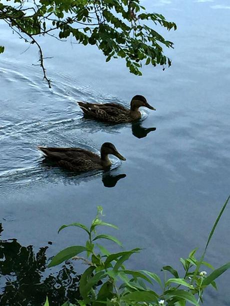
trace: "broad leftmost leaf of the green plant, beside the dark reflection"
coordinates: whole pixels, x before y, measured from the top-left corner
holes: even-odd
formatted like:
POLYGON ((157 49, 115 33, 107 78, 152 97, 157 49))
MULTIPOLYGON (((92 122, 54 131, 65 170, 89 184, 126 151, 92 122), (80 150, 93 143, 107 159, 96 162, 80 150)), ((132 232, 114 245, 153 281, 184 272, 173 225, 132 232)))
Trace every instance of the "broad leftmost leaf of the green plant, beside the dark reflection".
POLYGON ((51 262, 48 264, 48 268, 57 266, 64 261, 72 258, 73 256, 76 256, 79 253, 82 253, 84 251, 87 251, 85 247, 82 246, 72 246, 68 247, 59 253, 57 253, 51 260, 51 262))

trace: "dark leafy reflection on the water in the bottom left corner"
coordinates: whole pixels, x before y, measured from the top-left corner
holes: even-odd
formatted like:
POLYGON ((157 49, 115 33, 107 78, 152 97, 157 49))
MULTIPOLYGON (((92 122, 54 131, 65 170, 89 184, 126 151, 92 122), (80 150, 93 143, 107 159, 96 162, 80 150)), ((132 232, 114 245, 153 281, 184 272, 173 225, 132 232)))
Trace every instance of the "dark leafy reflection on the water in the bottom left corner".
POLYGON ((35 253, 32 246, 23 247, 16 239, 0 239, 1 306, 41 306, 46 296, 50 305, 57 306, 79 299, 80 276, 68 262, 58 272, 48 273, 47 248, 35 253))

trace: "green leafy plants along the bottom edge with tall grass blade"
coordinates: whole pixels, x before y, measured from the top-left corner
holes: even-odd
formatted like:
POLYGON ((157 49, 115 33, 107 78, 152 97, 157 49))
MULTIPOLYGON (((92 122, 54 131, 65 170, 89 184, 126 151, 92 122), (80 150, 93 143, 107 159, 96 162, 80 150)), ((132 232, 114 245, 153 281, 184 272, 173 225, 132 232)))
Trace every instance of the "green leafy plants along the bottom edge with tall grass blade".
MULTIPOLYGON (((89 267, 84 271, 79 283, 81 300, 76 301, 77 305, 108 306, 119 305, 167 305, 185 306, 186 303, 198 306, 202 302, 203 292, 207 286, 216 289, 215 279, 230 268, 230 262, 214 269, 210 264, 203 261, 207 246, 211 240, 219 219, 229 201, 230 196, 224 203, 212 229, 200 260, 195 258, 196 249, 191 251, 186 259, 180 258, 184 269, 183 277, 170 266, 164 266, 165 278, 162 282, 155 273, 148 271, 131 271, 125 269, 124 262, 141 249, 110 253, 97 241, 108 239, 119 246, 121 243, 113 236, 97 234, 98 226, 108 226, 117 229, 116 226, 105 223, 100 219, 102 208, 97 208, 96 218, 91 226, 87 228, 80 223, 63 225, 58 232, 69 226, 83 229, 88 240, 85 246, 72 246, 60 251, 54 256, 48 267, 56 266, 70 258, 83 260, 89 267), (77 255, 85 252, 86 259, 77 255), (207 275, 205 271, 200 271, 200 267, 207 267, 212 272, 207 275), (172 277, 167 277, 167 274, 172 277), (183 289, 181 289, 183 288, 183 289)), ((48 301, 46 301, 48 305, 48 301)), ((69 305, 67 302, 64 306, 69 305)))

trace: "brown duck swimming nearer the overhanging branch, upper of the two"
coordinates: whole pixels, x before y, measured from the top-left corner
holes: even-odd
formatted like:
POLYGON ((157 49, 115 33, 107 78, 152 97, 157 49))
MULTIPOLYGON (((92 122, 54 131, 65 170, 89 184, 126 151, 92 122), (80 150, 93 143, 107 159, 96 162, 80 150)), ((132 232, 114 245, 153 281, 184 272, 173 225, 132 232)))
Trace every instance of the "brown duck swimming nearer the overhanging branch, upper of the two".
POLYGON ((86 116, 105 122, 128 123, 140 119, 139 107, 155 110, 144 96, 135 95, 130 102, 130 109, 116 103, 77 102, 86 116))

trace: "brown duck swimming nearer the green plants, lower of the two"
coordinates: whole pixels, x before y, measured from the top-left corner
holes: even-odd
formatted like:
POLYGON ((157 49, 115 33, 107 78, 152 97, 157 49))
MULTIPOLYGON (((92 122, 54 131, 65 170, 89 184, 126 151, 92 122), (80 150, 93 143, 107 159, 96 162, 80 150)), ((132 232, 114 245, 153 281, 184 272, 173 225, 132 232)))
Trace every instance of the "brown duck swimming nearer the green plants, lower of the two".
POLYGON ((126 160, 110 142, 104 142, 100 148, 100 156, 81 148, 60 148, 37 146, 42 154, 56 165, 74 172, 106 170, 111 166, 108 154, 120 160, 126 160))

